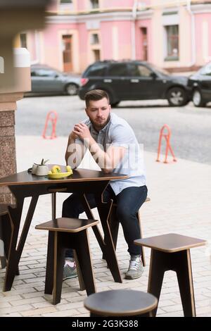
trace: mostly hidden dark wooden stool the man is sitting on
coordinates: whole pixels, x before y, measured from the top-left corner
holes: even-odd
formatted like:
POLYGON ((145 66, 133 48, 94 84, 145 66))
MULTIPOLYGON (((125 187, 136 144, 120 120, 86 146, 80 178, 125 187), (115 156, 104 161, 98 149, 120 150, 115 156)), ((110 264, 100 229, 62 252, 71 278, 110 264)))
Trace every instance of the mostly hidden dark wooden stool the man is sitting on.
MULTIPOLYGON (((151 201, 151 199, 147 197, 145 202, 148 202, 148 201, 151 201)), ((143 230, 142 230, 142 225, 141 225, 140 211, 138 211, 136 216, 137 216, 137 219, 139 221, 141 238, 143 238, 143 230)), ((117 204, 112 205, 112 208, 111 208, 111 211, 110 211, 110 218, 109 218, 108 222, 109 222, 109 226, 110 226, 110 233, 111 233, 112 238, 113 238, 113 244, 114 244, 115 249, 116 249, 117 237, 118 237, 119 225, 120 225, 120 221, 117 220, 117 204)), ((105 238, 105 241, 106 241, 106 238, 105 238)), ((103 258, 105 258, 105 257, 103 256, 103 258)), ((143 266, 145 267, 146 266, 145 253, 144 253, 144 249, 143 249, 142 246, 141 246, 141 260, 142 260, 143 266)))

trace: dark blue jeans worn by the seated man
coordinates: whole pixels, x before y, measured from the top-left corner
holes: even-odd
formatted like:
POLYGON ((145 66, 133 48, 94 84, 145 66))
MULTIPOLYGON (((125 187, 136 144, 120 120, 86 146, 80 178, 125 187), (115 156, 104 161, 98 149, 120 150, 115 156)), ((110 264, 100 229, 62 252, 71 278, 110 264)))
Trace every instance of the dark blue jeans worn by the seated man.
MULTIPOLYGON (((124 232, 124 239, 127 242, 128 252, 130 255, 141 255, 141 247, 134 244, 135 239, 139 239, 140 228, 136 213, 146 200, 146 185, 141 187, 127 187, 120 194, 115 195, 113 189, 108 185, 103 193, 103 201, 108 202, 113 199, 117 204, 117 219, 120 220, 124 232)), ((86 194, 90 208, 96 208, 94 194, 86 194)), ((77 193, 71 194, 63 202, 63 217, 79 218, 79 214, 84 213, 84 207, 77 193)), ((67 249, 65 257, 73 257, 72 249, 67 249)))

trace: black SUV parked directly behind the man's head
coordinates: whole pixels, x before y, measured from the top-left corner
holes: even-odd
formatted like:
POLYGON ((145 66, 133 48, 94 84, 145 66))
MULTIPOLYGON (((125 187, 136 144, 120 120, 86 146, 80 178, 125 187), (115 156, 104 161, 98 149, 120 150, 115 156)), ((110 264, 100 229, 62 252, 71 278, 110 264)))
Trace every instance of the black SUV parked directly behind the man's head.
POLYGON ((171 106, 184 106, 191 100, 188 78, 173 76, 143 61, 98 61, 84 71, 79 97, 91 89, 103 89, 110 104, 122 100, 167 99, 171 106))

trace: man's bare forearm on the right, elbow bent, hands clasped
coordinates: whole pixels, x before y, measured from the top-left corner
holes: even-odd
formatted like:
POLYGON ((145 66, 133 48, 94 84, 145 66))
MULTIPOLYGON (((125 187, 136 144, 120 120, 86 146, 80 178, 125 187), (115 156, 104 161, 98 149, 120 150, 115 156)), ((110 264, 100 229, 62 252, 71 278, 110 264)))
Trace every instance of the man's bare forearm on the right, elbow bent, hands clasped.
POLYGON ((75 125, 72 131, 84 139, 84 145, 89 149, 96 163, 104 173, 111 173, 122 160, 126 149, 122 146, 110 146, 108 151, 103 151, 98 143, 91 137, 89 127, 84 123, 75 125))

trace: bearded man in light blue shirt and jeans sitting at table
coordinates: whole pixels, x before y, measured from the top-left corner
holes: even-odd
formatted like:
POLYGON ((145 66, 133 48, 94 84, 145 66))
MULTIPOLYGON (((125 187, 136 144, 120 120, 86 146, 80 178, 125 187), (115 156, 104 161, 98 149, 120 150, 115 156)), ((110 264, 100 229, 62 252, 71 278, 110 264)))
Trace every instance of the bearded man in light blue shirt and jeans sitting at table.
MULTIPOLYGON (((141 247, 134 245, 134 240, 141 237, 136 213, 147 196, 143 157, 132 127, 126 120, 111 113, 109 97, 105 91, 95 89, 88 92, 85 102, 88 118, 75 124, 70 133, 65 160, 72 168, 77 168, 84 152, 89 149, 104 173, 129 175, 124 180, 111 180, 103 194, 103 201, 113 199, 117 204, 117 218, 122 225, 130 254, 125 278, 133 280, 143 273, 141 247)), ((89 206, 95 208, 94 195, 86 196, 89 206)), ((83 212, 84 207, 76 193, 63 202, 63 217, 79 218, 83 212)), ((67 249, 63 280, 76 276, 73 252, 67 249)))

